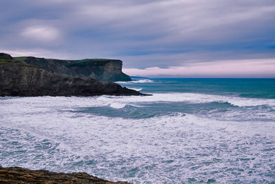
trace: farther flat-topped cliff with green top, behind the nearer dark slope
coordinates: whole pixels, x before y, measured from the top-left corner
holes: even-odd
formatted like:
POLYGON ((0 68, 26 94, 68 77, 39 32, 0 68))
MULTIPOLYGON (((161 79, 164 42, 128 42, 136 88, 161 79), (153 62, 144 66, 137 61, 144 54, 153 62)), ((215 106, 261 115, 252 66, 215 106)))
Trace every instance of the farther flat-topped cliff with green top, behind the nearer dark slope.
POLYGON ((36 57, 14 57, 14 59, 49 72, 86 76, 100 81, 131 81, 131 77, 122 72, 122 61, 115 59, 61 60, 36 57))

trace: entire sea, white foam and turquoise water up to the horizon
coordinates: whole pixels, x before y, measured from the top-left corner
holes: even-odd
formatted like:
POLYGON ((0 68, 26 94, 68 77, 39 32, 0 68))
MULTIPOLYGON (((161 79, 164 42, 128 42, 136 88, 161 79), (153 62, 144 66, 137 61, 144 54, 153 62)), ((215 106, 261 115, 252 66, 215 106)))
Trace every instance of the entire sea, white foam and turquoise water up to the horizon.
POLYGON ((275 79, 138 79, 153 96, 1 97, 0 165, 132 183, 275 183, 275 79))

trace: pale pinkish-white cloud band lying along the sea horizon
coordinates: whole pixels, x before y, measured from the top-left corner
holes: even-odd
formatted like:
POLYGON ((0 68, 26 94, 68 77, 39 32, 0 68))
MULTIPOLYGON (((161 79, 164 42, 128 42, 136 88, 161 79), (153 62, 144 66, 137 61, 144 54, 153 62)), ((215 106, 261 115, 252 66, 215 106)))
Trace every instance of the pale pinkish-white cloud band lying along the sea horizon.
POLYGON ((181 76, 181 77, 275 77, 275 59, 252 59, 193 63, 188 66, 168 68, 124 68, 131 76, 181 76))

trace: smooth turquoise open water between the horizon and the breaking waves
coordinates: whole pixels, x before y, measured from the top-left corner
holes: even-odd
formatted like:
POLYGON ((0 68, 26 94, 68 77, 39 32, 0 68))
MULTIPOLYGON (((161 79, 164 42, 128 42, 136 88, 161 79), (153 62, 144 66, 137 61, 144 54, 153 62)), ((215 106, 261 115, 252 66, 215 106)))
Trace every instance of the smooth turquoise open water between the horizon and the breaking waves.
MULTIPOLYGON (((150 79, 143 79, 150 80, 150 79)), ((125 83, 142 92, 190 92, 248 98, 275 99, 275 79, 178 79, 157 78, 153 83, 125 83)), ((142 79, 140 80, 142 81, 142 79)))

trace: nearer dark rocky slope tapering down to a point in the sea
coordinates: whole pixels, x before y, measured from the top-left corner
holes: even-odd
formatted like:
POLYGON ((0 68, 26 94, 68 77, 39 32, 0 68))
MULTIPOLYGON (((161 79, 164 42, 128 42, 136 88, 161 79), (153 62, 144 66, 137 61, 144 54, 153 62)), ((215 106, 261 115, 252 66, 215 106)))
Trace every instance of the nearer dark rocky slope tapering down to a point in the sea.
POLYGON ((83 76, 69 76, 15 61, 0 53, 0 96, 143 95, 120 85, 83 76))

